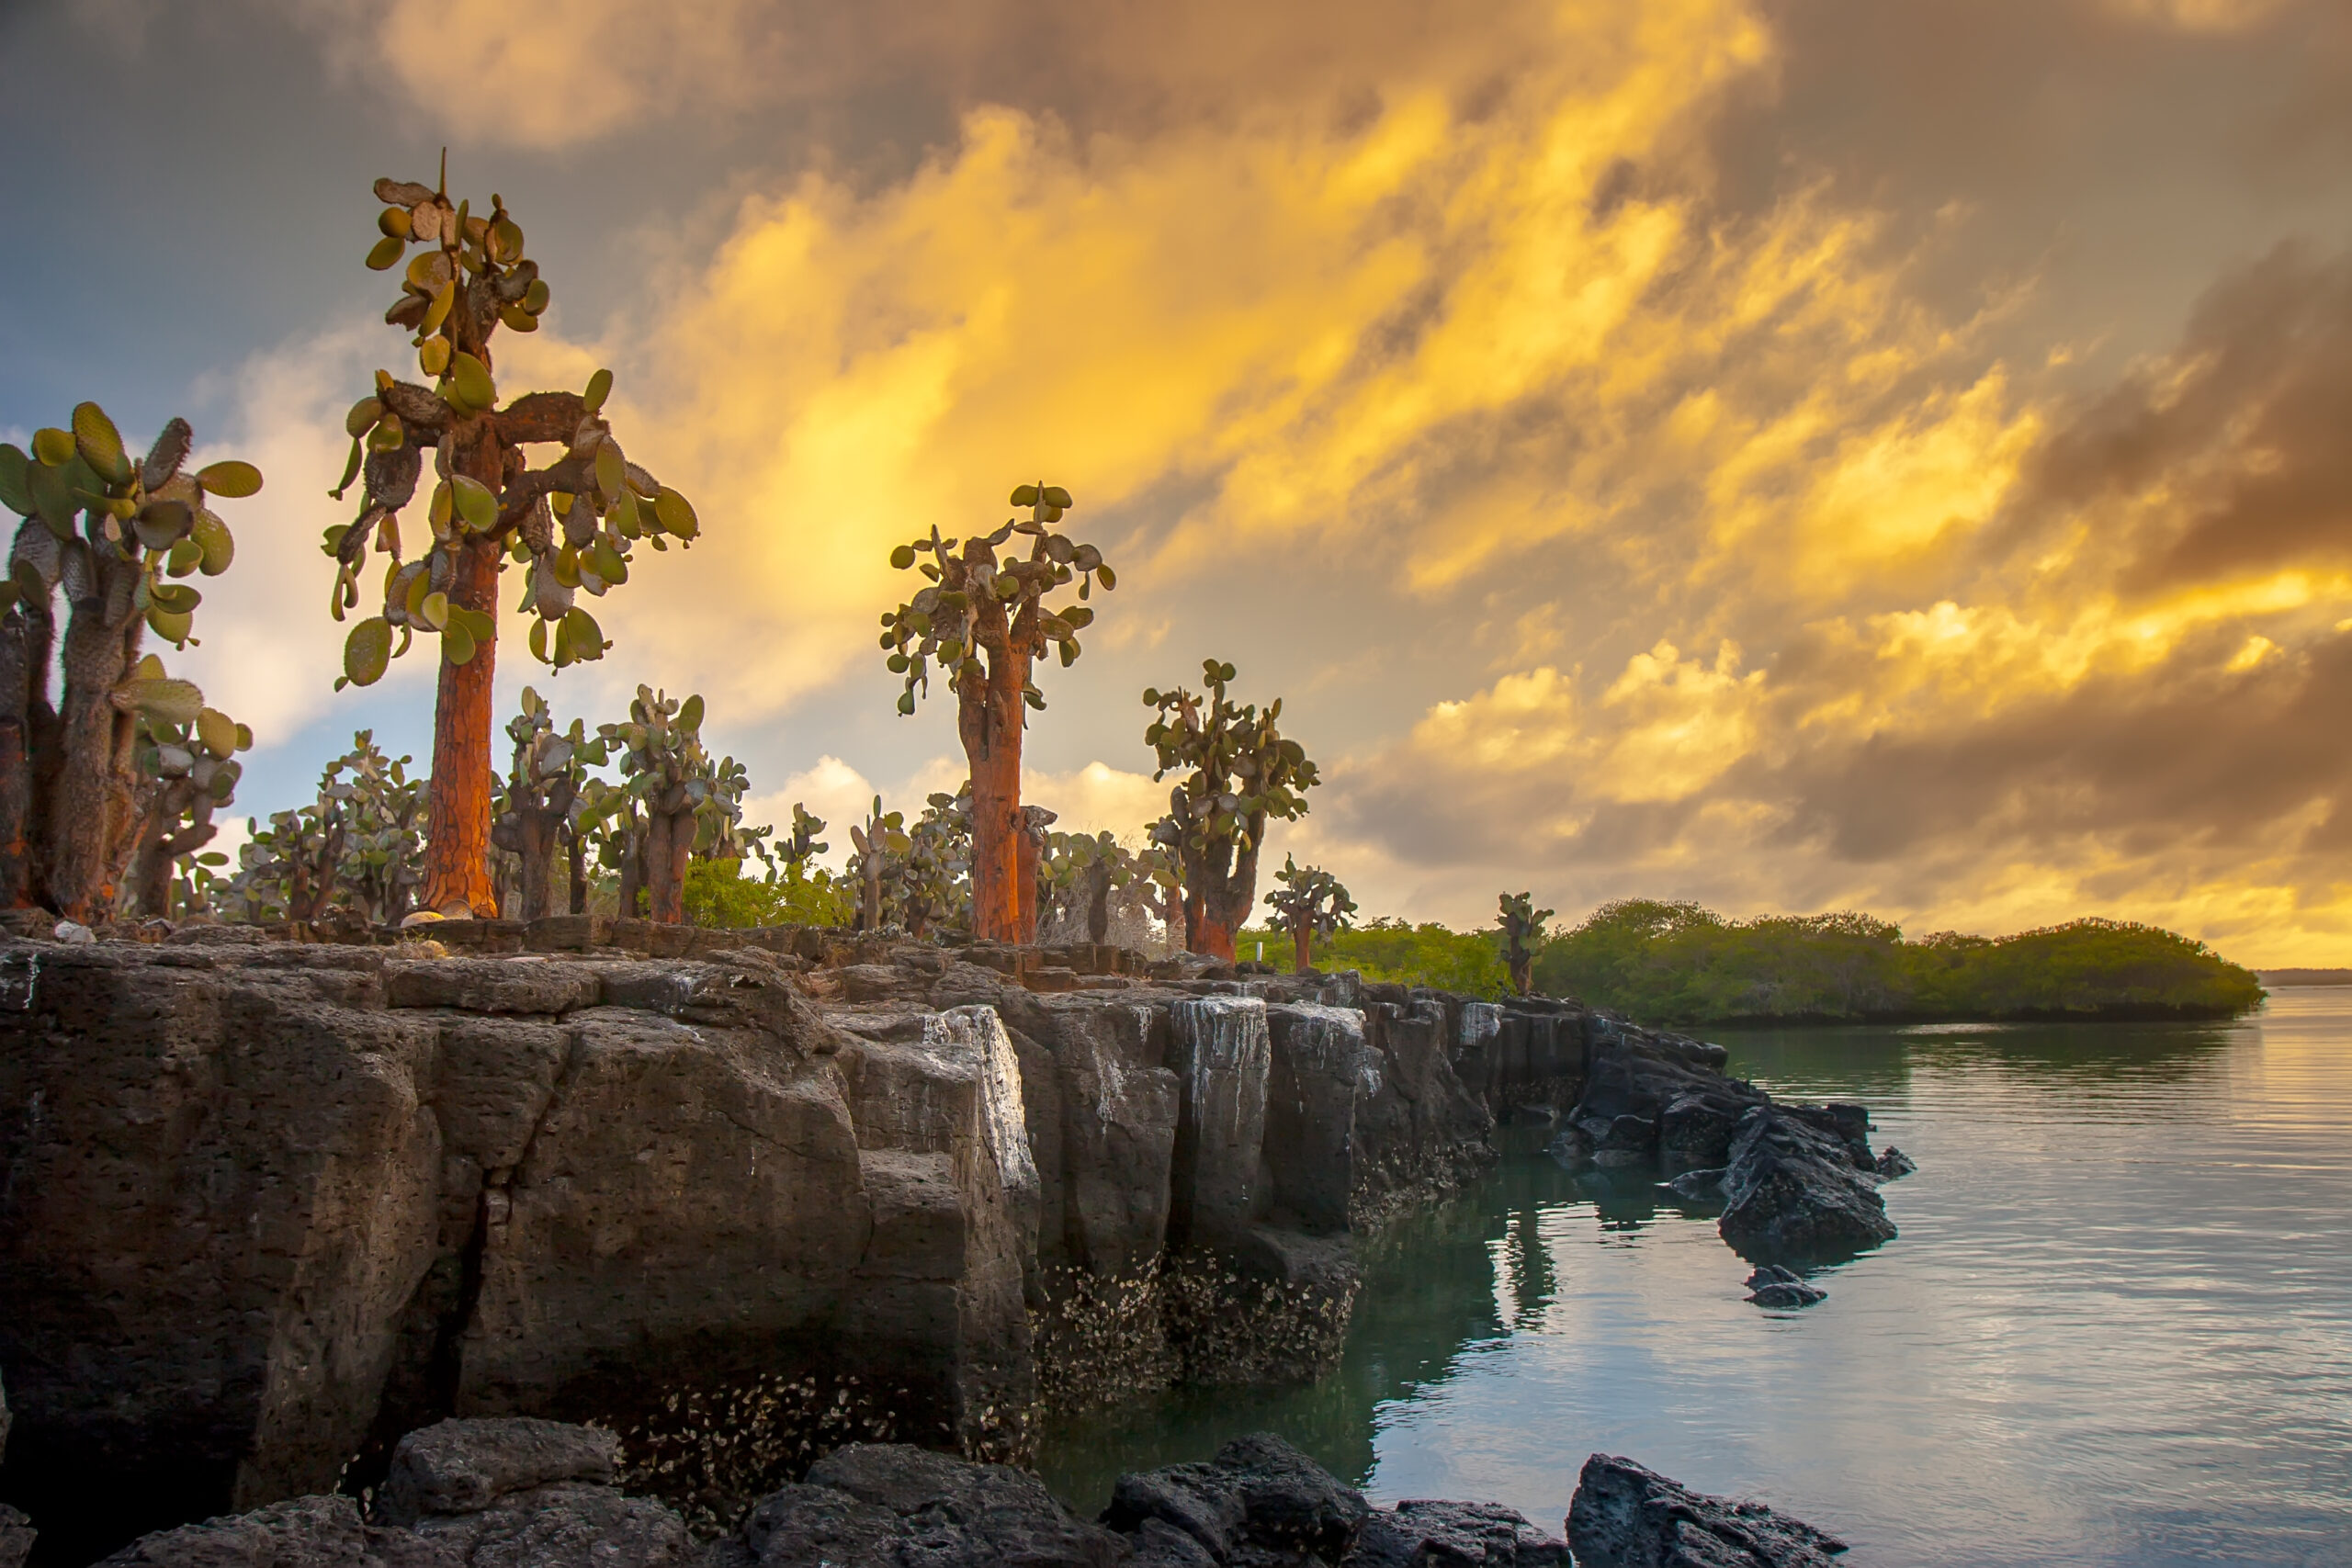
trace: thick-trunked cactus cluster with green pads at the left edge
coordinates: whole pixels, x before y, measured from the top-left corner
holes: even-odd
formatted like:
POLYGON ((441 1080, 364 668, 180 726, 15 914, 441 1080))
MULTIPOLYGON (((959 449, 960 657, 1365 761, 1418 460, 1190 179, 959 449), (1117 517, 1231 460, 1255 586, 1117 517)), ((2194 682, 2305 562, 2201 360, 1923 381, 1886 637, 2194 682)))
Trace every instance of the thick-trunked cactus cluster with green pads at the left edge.
MULTIPOLYGON (((141 766, 186 752, 186 731, 209 712, 193 684, 141 658, 141 642, 193 642, 202 595, 186 578, 219 576, 235 557, 212 501, 261 489, 252 463, 191 473, 191 447, 188 421, 174 418, 134 458, 94 402, 66 428, 38 430, 33 451, 0 444, 0 505, 21 517, 0 583, 0 905, 118 914, 141 846, 179 837, 186 813, 167 820, 169 799, 191 813, 223 799, 209 790, 226 752, 209 743, 207 785, 193 795, 179 773, 141 766)), ((219 715, 207 724, 212 741, 233 733, 219 715)), ((167 898, 141 875, 151 898, 167 898)))

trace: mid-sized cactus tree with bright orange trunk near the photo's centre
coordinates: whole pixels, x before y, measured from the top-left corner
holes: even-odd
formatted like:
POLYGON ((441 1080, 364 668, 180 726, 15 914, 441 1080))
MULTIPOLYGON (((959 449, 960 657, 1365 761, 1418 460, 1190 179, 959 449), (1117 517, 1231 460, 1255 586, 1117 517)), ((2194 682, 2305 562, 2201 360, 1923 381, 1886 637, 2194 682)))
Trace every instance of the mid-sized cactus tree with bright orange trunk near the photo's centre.
POLYGON ((1051 644, 1068 668, 1077 661, 1077 632, 1094 621, 1087 604, 1047 609, 1044 597, 1075 578, 1077 597, 1087 599, 1094 583, 1108 590, 1117 576, 1101 550, 1054 531, 1070 510, 1070 491, 1023 484, 1011 505, 1030 515, 964 541, 931 529, 929 538, 891 550, 891 567, 920 564, 931 585, 882 616, 882 646, 891 672, 906 677, 898 712, 915 712, 915 693, 929 693, 934 665, 955 691, 955 729, 971 766, 971 933, 1025 943, 1037 931, 1037 877, 1035 837, 1021 811, 1021 731, 1028 710, 1044 708, 1030 665, 1051 644), (1014 536, 1030 541, 1028 557, 1000 562, 997 550, 1014 536))

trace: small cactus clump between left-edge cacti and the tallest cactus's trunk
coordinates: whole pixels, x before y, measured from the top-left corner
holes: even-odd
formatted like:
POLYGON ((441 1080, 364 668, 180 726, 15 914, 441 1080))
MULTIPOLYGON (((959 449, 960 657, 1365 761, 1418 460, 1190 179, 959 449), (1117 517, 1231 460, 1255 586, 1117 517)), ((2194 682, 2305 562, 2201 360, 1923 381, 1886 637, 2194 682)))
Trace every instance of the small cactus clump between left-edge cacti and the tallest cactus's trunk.
POLYGON ((426 783, 409 776, 409 757, 388 757, 362 729, 320 773, 308 806, 273 813, 268 827, 247 820, 238 875, 216 889, 216 912, 400 924, 423 879, 423 809, 426 783))

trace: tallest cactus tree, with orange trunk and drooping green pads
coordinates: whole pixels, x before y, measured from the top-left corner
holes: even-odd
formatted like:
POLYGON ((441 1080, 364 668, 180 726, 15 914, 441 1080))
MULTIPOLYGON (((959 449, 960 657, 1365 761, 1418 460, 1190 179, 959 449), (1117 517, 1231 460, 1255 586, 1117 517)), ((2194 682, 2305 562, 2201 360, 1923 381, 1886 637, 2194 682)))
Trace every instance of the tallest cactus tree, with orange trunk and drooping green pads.
POLYGON ((412 244, 400 299, 383 313, 414 331, 416 364, 435 386, 376 371, 376 388, 350 407, 350 463, 336 498, 360 482, 360 515, 327 529, 336 559, 329 609, 360 604, 369 548, 388 557, 383 609, 350 628, 343 682, 367 686, 419 632, 440 639, 433 708, 433 785, 426 886, 435 914, 494 914, 487 856, 492 832, 492 665, 499 574, 524 567, 522 609, 534 611, 532 654, 557 670, 602 658, 602 628, 579 604, 626 583, 637 543, 691 541, 699 522, 675 489, 630 463, 604 421, 612 371, 586 393, 524 393, 499 407, 492 334, 536 331, 548 308, 539 263, 522 254, 522 228, 506 202, 489 212, 452 205, 442 188, 379 179, 381 240, 367 266, 390 270, 412 244), (524 447, 560 447, 543 468, 524 447), (402 559, 400 510, 416 496, 426 456, 435 484, 426 505, 430 538, 402 559), (400 642, 393 644, 397 632, 400 642))

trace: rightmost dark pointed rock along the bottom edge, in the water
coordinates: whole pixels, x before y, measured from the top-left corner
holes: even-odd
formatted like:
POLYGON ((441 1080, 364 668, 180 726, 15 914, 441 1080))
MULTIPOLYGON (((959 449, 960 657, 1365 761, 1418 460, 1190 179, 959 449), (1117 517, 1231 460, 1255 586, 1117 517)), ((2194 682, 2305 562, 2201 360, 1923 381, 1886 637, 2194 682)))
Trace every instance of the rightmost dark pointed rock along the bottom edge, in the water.
POLYGON ((1581 1568, 1825 1568, 1846 1542, 1595 1453, 1576 1479, 1569 1547, 1581 1568))

